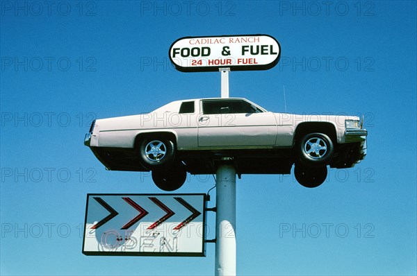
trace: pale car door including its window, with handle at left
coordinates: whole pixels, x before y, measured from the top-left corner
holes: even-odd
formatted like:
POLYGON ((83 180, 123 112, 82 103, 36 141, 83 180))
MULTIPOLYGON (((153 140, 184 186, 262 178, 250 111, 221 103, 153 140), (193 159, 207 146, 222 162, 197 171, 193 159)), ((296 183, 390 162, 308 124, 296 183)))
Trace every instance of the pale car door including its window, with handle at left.
POLYGON ((277 121, 244 99, 207 99, 201 102, 199 147, 274 146, 277 121))

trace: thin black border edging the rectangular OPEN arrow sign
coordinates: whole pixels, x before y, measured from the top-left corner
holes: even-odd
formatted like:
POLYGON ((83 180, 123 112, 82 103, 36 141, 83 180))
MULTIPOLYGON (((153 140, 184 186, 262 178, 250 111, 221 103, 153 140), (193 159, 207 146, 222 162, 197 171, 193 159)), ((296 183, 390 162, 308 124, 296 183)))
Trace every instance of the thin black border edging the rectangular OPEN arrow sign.
POLYGON ((83 226, 83 255, 86 256, 152 256, 152 257, 206 257, 206 211, 207 195, 206 193, 87 193, 85 204, 85 218, 83 226), (85 226, 87 225, 88 199, 90 196, 203 196, 203 236, 202 252, 99 252, 84 251, 85 244, 85 226))

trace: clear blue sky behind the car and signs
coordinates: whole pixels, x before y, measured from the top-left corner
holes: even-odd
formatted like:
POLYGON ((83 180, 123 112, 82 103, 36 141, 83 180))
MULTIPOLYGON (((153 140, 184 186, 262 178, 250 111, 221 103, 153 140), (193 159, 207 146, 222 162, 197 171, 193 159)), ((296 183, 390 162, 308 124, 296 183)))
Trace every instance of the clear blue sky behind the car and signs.
MULTIPOLYGON (((87 193, 161 192, 147 173, 106 171, 83 136, 94 118, 220 96, 220 74, 173 69, 179 37, 263 33, 281 61, 231 72, 230 95, 284 112, 285 86, 288 112, 363 115, 368 156, 316 189, 243 175, 238 274, 416 275, 416 14, 415 1, 1 1, 0 274, 213 275, 213 244, 81 254, 87 193)), ((188 175, 177 192, 213 184, 188 175)))

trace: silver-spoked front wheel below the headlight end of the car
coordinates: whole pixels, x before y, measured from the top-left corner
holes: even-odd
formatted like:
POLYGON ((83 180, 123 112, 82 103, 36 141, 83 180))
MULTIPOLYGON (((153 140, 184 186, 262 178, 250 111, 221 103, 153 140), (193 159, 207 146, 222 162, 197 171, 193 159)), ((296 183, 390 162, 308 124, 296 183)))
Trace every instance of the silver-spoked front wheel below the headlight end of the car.
POLYGON ((298 144, 300 161, 306 166, 326 166, 334 153, 332 139, 323 133, 305 135, 298 144))

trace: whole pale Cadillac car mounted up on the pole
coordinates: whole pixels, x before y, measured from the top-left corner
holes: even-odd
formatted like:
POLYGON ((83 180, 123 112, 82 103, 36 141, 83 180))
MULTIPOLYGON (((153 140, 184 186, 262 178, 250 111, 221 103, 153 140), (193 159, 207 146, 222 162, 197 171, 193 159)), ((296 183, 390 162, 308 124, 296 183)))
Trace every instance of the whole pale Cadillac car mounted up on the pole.
POLYGON ((152 171, 164 191, 187 173, 212 174, 230 162, 242 174, 291 174, 318 187, 330 168, 366 155, 363 120, 345 115, 269 112, 245 98, 173 101, 153 112, 96 119, 84 144, 113 171, 152 171))

